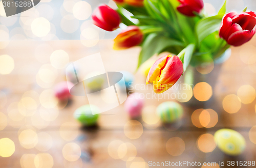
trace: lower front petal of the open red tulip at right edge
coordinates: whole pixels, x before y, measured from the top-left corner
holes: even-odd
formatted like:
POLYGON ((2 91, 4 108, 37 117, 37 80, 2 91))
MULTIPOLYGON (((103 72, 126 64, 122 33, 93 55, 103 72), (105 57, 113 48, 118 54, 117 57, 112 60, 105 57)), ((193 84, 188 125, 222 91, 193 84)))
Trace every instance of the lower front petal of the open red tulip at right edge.
POLYGON ((227 43, 233 46, 240 46, 252 38, 252 36, 255 34, 255 31, 239 31, 231 34, 231 36, 228 38, 227 43))

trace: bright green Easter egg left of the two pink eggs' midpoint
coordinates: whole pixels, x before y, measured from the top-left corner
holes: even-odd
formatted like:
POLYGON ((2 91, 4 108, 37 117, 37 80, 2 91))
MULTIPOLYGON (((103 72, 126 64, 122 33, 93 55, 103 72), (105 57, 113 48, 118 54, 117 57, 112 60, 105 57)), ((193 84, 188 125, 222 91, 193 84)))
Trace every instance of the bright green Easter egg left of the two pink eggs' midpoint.
POLYGON ((75 110, 74 118, 84 126, 96 125, 99 115, 93 115, 92 110, 100 111, 100 109, 95 105, 83 105, 75 110))

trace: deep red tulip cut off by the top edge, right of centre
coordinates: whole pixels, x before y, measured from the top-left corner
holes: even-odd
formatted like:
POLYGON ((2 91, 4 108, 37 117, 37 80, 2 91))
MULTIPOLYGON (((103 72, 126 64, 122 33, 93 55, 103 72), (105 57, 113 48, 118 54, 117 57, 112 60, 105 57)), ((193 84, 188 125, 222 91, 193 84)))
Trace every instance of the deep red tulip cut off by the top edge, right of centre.
POLYGON ((193 12, 200 13, 204 7, 203 0, 178 0, 181 5, 177 7, 177 10, 187 16, 195 16, 193 12))

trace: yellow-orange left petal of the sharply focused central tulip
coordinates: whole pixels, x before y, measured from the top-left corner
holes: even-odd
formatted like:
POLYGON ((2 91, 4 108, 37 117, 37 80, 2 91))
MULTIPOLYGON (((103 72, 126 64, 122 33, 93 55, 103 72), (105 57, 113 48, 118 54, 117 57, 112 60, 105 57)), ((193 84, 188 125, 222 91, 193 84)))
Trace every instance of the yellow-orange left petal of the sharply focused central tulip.
POLYGON ((153 83, 153 81, 156 80, 156 78, 160 75, 160 71, 162 67, 165 65, 168 57, 172 57, 172 55, 165 55, 153 64, 153 66, 150 68, 150 72, 148 72, 146 84, 148 84, 149 82, 153 83))

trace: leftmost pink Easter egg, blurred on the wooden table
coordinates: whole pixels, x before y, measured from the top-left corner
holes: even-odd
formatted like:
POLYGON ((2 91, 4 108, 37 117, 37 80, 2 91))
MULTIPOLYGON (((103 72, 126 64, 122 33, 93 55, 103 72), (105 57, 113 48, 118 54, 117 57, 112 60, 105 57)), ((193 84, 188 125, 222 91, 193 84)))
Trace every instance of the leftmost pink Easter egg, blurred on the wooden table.
POLYGON ((69 93, 68 85, 69 86, 74 86, 74 84, 71 83, 70 81, 61 81, 61 82, 57 83, 57 85, 55 85, 54 93, 55 93, 55 96, 59 100, 66 100, 66 99, 69 99, 72 96, 69 93))

